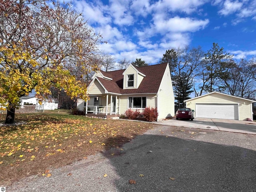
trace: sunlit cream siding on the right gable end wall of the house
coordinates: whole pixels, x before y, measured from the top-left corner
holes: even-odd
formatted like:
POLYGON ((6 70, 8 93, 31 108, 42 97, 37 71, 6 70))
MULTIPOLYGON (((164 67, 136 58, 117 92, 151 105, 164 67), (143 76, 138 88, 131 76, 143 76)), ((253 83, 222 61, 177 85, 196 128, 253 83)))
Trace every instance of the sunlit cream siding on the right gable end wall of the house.
POLYGON ((174 93, 172 88, 172 79, 170 76, 169 65, 166 66, 158 90, 158 120, 174 116, 174 93))

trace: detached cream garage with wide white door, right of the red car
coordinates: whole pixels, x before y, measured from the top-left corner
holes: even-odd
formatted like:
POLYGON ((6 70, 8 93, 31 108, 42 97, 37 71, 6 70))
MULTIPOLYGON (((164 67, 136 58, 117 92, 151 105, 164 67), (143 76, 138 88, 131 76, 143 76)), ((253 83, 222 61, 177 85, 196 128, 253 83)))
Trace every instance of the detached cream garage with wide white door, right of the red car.
POLYGON ((212 92, 185 102, 195 110, 196 118, 246 120, 252 118, 252 103, 256 101, 212 92))

